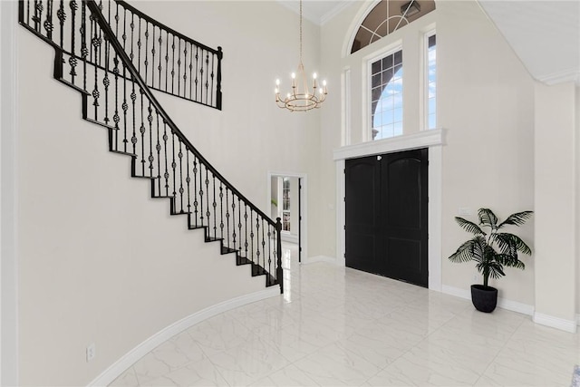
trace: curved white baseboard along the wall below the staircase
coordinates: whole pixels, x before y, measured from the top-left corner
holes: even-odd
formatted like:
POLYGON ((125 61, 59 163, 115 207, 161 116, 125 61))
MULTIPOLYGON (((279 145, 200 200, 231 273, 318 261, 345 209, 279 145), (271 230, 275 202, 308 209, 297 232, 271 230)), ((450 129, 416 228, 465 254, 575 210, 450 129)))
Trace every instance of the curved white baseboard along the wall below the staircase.
POLYGON ((129 369, 131 365, 137 363, 141 357, 145 356, 147 353, 150 353, 161 343, 165 343, 171 337, 185 331, 195 324, 199 324, 210 317, 227 312, 228 310, 237 308, 239 306, 251 304, 269 297, 274 297, 276 295, 280 295, 280 288, 278 286, 271 286, 265 290, 251 293, 249 295, 241 295, 239 297, 232 298, 231 300, 224 301, 223 303, 209 306, 194 314, 190 314, 189 316, 161 329, 160 332, 153 334, 143 343, 137 345, 129 353, 123 355, 117 362, 112 363, 109 368, 107 368, 92 382, 90 382, 89 386, 106 386, 111 384, 111 382, 113 382, 123 372, 129 369))

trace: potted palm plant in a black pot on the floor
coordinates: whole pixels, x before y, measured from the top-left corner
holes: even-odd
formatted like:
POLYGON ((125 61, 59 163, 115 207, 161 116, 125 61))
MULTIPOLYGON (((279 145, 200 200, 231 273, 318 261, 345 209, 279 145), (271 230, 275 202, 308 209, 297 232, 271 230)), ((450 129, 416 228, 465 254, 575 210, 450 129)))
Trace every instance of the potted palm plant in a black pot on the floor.
POLYGON ((506 276, 504 266, 524 269, 517 253, 531 255, 532 250, 514 234, 503 232, 506 226, 521 226, 531 218, 533 211, 517 212, 503 222, 489 208, 479 208, 479 223, 456 217, 459 227, 473 234, 455 253, 449 256, 451 262, 475 261, 478 272, 483 276, 483 285, 471 285, 471 302, 478 311, 490 313, 498 304, 498 289, 488 285, 489 277, 506 276), (488 232, 484 231, 488 230, 488 232))

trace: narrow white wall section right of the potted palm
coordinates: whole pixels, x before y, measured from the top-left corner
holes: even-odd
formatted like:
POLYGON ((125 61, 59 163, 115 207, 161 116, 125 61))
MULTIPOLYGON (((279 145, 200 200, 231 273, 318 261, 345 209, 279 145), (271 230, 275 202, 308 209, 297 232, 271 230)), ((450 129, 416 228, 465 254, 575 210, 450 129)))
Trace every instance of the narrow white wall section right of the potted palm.
POLYGON ((575 329, 575 85, 536 85, 535 320, 575 329), (546 321, 548 320, 548 321, 546 321))

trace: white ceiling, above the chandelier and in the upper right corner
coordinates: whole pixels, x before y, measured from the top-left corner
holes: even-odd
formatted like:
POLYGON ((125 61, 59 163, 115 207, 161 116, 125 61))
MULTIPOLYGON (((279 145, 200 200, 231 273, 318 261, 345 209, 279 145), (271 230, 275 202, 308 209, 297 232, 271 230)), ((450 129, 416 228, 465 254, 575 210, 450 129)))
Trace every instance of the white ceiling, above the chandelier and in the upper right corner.
MULTIPOLYGON (((298 13, 297 0, 276 0, 298 13)), ((304 0, 304 18, 322 25, 357 0, 304 0)), ((443 1, 443 0, 436 0, 443 1)), ((536 80, 580 86, 580 1, 478 0, 536 80)))

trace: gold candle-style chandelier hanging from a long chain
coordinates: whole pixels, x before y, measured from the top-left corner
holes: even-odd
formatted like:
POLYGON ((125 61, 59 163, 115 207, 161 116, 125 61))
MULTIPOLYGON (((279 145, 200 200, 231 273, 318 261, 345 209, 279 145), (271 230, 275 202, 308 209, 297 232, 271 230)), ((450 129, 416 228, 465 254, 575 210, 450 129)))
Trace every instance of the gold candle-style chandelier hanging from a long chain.
POLYGON ((322 85, 318 84, 316 73, 313 74, 314 82, 312 92, 308 92, 308 82, 302 64, 302 0, 300 0, 300 62, 298 72, 292 73, 292 91, 288 92, 283 99, 280 96, 280 80, 275 80, 275 102, 279 108, 289 111, 309 111, 320 108, 326 99, 326 81, 322 85))

